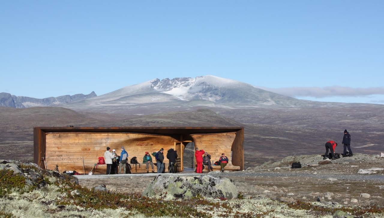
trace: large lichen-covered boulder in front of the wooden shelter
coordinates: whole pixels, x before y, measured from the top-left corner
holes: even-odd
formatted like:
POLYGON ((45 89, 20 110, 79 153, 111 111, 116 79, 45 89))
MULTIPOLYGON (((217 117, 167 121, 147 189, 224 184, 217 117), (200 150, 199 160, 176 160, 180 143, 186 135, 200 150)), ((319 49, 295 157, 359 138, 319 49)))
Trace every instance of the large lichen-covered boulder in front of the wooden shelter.
POLYGON ((146 197, 170 199, 237 198, 238 190, 232 180, 212 175, 158 175, 142 193, 146 197))

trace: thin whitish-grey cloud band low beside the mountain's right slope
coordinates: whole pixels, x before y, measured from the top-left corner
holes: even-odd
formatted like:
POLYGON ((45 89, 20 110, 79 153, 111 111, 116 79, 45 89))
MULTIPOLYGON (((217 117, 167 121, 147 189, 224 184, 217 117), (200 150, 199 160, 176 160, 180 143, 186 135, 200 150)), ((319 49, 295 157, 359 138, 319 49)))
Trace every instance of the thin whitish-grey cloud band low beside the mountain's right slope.
POLYGON ((342 86, 327 86, 327 87, 286 87, 286 88, 268 88, 258 87, 260 89, 275 92, 281 95, 291 97, 315 97, 325 98, 333 96, 349 96, 359 97, 368 95, 384 95, 384 87, 372 88, 351 88, 342 86))

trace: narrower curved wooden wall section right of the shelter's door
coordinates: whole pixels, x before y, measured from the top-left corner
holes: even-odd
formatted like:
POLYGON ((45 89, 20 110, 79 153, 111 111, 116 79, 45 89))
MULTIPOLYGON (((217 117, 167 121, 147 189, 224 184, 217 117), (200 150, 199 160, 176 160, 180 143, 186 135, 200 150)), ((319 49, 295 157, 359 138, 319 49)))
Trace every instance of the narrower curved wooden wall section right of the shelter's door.
MULTIPOLYGON (((225 153, 225 156, 230 159, 236 133, 191 134, 191 136, 194 139, 195 148, 203 149, 205 152, 210 154, 211 161, 218 161, 222 153, 225 153)), ((232 161, 232 163, 234 162, 232 161)), ((232 166, 234 165, 232 164, 232 166)), ((230 166, 227 167, 227 169, 230 168, 230 166)), ((240 169, 240 166, 233 168, 240 169)))

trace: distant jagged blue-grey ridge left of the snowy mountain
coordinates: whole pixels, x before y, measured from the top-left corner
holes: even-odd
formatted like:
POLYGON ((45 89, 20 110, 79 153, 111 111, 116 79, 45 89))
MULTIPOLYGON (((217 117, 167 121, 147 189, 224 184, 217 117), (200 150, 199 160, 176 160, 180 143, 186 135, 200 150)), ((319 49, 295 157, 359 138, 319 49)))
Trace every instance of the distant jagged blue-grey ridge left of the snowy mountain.
POLYGON ((11 95, 7 92, 0 93, 0 106, 12 107, 12 108, 29 108, 29 107, 44 107, 52 105, 60 105, 79 100, 96 97, 95 92, 91 92, 88 95, 76 94, 76 95, 62 95, 59 97, 48 98, 31 98, 25 96, 11 95))

